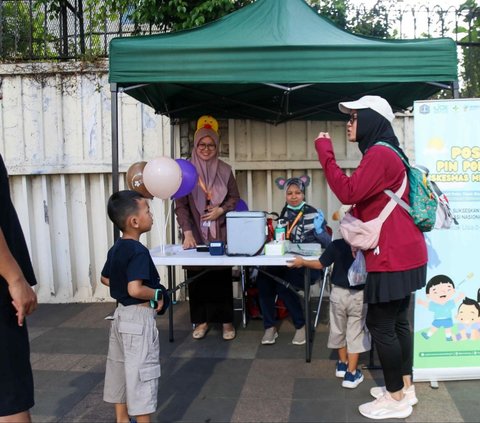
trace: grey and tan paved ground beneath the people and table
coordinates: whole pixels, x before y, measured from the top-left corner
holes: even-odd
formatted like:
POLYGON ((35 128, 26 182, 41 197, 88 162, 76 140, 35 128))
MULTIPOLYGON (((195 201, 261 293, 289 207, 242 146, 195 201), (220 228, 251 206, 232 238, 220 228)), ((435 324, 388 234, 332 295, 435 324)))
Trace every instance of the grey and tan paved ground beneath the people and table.
MULTIPOLYGON (((29 318, 34 422, 114 422, 113 407, 102 401, 110 324, 104 317, 113 309, 112 303, 40 305, 29 318)), ((304 348, 291 344, 288 320, 272 346, 260 345, 258 320, 245 329, 237 324, 232 342, 221 339, 219 328, 197 341, 190 335, 188 304, 176 304, 175 342, 168 341, 168 318, 158 318, 162 377, 155 421, 368 421, 357 407, 370 400, 368 391, 381 383, 381 371, 364 370, 365 381, 357 389, 341 387, 334 376, 335 357, 326 348, 323 309, 312 362, 306 363, 304 348)), ((369 363, 365 354, 362 364, 369 363)), ((420 402, 405 421, 480 421, 480 381, 439 383, 438 389, 418 383, 416 388, 420 402)))

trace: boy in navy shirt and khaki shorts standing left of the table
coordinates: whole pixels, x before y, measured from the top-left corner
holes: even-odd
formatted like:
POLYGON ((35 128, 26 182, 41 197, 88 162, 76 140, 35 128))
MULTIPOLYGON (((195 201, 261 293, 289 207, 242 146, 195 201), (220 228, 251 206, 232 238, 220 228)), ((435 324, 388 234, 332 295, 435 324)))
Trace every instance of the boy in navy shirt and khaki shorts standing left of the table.
POLYGON ((150 422, 157 409, 160 347, 157 313, 168 293, 140 235, 152 228, 148 200, 136 191, 119 191, 108 200, 108 216, 122 231, 109 250, 101 282, 118 302, 108 346, 103 399, 115 404, 117 422, 150 422))

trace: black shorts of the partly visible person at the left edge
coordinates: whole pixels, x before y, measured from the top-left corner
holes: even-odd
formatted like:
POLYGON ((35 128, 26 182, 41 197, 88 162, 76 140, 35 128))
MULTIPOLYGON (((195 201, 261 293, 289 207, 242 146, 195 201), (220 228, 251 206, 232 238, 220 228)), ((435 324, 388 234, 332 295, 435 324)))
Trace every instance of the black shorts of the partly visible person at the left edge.
POLYGON ((4 280, 0 280, 0 416, 33 407, 33 375, 26 323, 20 327, 4 280))

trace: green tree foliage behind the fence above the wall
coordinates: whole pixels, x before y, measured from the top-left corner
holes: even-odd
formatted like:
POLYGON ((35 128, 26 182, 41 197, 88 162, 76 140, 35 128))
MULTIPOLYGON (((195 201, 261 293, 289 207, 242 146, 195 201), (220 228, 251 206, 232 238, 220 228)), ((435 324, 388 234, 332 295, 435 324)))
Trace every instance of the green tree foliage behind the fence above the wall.
MULTIPOLYGON (((0 54, 3 58, 58 57, 65 40, 58 35, 62 11, 80 17, 74 5, 83 5, 81 24, 86 34, 84 57, 106 54, 104 33, 147 34, 194 28, 255 0, 3 0, 0 1, 0 54), (33 4, 33 13, 29 5, 33 4), (47 23, 51 22, 52 33, 47 23), (55 26, 56 25, 56 26, 55 26), (53 30, 55 28, 55 30, 53 30)), ((284 0, 277 0, 284 1, 284 0)), ((372 8, 353 0, 307 0, 321 16, 332 20, 340 28, 358 35, 397 38, 390 27, 396 17, 397 0, 377 0, 372 8)), ((440 3, 440 2, 439 2, 440 3)), ((418 5, 422 0, 418 1, 418 5)), ((441 10, 438 11, 442 13, 441 10)), ((462 48, 460 76, 461 96, 480 97, 480 12, 478 0, 464 0, 461 6, 464 25, 457 30, 462 48), (463 37, 463 38, 462 38, 463 37)), ((461 22, 461 20, 460 20, 461 22)), ((444 22, 442 21, 442 29, 444 22)), ((70 24, 69 24, 70 25, 70 24)), ((80 24, 78 24, 80 25, 80 24)), ((453 28, 450 28, 453 30, 453 28)), ((423 34, 422 36, 428 36, 423 34)), ((78 55, 77 41, 68 37, 69 55, 78 55)), ((61 55, 61 54, 60 54, 61 55)), ((437 98, 449 98, 442 91, 437 98)))

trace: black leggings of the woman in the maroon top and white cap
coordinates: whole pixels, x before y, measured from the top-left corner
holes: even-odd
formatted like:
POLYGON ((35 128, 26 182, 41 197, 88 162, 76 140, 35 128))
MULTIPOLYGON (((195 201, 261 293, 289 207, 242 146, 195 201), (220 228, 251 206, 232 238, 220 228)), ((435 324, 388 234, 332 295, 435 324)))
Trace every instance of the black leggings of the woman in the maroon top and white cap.
POLYGON ((408 321, 410 296, 388 303, 368 304, 367 327, 377 348, 389 392, 403 388, 403 376, 412 374, 413 341, 408 321))

